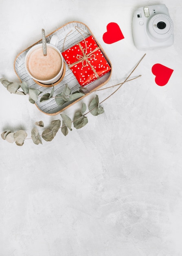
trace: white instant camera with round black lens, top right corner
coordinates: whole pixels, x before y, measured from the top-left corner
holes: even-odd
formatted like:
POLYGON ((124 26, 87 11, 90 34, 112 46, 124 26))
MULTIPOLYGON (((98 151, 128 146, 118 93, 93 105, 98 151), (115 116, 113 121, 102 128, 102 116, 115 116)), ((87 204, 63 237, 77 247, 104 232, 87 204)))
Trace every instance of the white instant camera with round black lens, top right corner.
POLYGON ((165 4, 140 7, 135 11, 133 38, 139 50, 173 45, 173 22, 165 4))

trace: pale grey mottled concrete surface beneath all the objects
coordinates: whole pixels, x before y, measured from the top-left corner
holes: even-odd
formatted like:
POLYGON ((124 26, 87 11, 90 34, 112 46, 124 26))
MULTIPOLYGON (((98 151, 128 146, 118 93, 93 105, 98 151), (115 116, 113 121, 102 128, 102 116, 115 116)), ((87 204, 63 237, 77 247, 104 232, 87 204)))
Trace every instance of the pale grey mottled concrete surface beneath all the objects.
MULTIPOLYGON (((66 137, 22 147, 0 139, 1 256, 182 255, 182 2, 180 0, 0 0, 0 77, 18 81, 18 53, 66 22, 84 22, 113 66, 106 86, 133 76, 102 106, 105 112, 66 137), (132 39, 138 6, 166 4, 174 45, 139 51, 132 39), (102 36, 116 22, 125 39, 107 45, 102 36), (156 85, 151 67, 173 74, 156 85)), ((98 92, 100 101, 112 90, 98 92)), ((64 113, 73 118, 90 95, 64 113)), ((26 130, 50 117, 0 86, 0 132, 26 130)), ((41 128, 39 129, 41 131, 41 128)))

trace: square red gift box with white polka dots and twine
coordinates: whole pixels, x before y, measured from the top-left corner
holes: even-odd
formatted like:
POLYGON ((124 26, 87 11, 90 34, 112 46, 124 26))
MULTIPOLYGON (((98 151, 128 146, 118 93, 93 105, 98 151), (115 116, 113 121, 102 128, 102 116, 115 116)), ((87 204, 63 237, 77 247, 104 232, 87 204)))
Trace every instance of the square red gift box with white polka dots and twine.
POLYGON ((88 85, 111 70, 93 36, 62 52, 62 55, 81 86, 88 85))

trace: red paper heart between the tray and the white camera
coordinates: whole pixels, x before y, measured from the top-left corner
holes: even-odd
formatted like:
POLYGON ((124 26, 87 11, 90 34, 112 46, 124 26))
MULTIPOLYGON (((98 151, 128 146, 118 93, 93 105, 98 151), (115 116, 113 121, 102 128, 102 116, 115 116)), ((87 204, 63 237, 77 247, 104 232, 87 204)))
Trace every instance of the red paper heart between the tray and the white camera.
POLYGON ((103 34, 103 41, 107 44, 115 43, 124 38, 120 27, 115 22, 110 22, 107 25, 107 32, 103 34))

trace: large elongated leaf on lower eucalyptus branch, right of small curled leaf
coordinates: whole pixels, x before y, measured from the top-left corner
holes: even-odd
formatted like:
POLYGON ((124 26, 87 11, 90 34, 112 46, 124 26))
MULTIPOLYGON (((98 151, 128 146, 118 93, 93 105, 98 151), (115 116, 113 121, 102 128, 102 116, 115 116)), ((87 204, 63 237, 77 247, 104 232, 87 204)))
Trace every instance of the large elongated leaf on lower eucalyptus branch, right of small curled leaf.
POLYGON ((61 126, 60 120, 51 121, 49 128, 47 128, 46 130, 44 130, 44 132, 42 132, 42 138, 46 141, 51 141, 52 139, 54 139, 60 126, 61 126))

